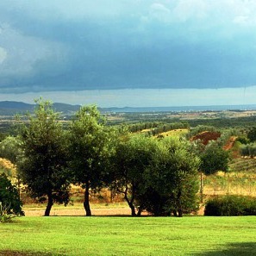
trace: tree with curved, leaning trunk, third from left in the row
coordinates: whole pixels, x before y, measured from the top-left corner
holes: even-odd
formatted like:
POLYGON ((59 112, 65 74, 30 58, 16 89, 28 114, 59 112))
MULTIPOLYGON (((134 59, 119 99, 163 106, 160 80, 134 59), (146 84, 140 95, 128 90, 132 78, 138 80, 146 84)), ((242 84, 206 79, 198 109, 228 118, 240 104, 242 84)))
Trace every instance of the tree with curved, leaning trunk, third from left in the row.
POLYGON ((123 194, 133 216, 140 215, 145 209, 140 198, 146 197, 145 172, 152 164, 155 149, 156 140, 144 135, 124 136, 116 145, 112 189, 123 194))

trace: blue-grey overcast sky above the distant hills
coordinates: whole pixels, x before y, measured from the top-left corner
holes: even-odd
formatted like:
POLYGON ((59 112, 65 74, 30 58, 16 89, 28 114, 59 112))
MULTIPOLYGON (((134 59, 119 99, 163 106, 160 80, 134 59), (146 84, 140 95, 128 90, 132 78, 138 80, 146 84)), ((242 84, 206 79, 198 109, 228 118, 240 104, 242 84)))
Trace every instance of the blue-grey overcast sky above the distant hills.
POLYGON ((256 103, 256 1, 1 0, 0 100, 256 103))

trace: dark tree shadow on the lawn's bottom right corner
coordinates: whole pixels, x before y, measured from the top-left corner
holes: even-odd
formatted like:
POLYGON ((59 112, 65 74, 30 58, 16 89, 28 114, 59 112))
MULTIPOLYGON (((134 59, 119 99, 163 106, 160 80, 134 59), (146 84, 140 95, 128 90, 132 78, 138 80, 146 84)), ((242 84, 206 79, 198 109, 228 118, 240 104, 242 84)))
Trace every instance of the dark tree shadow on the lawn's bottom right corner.
POLYGON ((202 252, 195 256, 256 256, 256 243, 230 243, 222 250, 202 252))

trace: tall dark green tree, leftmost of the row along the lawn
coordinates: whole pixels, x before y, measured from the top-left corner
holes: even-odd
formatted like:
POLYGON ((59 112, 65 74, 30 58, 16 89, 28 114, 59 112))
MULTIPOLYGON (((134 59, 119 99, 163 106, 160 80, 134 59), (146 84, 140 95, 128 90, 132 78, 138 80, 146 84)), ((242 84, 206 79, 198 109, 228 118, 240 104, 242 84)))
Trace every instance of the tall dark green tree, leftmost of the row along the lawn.
POLYGON ((24 156, 18 171, 31 196, 47 200, 45 215, 50 215, 53 203, 69 201, 66 138, 53 104, 41 99, 36 103, 21 130, 24 156))

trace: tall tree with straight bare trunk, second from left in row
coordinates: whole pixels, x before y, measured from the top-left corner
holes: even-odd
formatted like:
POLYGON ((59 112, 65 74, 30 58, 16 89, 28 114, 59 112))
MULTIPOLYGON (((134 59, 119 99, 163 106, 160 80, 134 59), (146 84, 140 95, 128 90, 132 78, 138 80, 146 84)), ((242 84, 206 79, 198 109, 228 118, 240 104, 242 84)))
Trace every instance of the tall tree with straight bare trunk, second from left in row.
POLYGON ((84 188, 84 210, 89 216, 90 192, 100 190, 108 178, 113 136, 96 106, 81 107, 69 127, 69 167, 73 182, 84 188))

